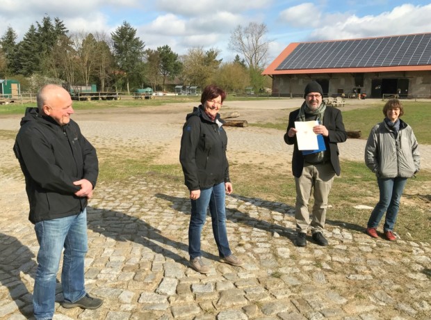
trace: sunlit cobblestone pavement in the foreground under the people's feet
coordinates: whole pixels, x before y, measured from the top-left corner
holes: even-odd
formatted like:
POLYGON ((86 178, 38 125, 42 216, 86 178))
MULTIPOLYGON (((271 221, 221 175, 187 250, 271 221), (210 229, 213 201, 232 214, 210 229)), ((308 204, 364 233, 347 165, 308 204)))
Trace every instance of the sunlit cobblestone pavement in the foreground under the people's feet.
MULTIPOLYGON (((238 131, 229 139, 236 135, 241 141, 238 131)), ((0 141, 1 150, 11 143, 0 141)), ((2 161, 16 160, 2 154, 2 161)), ((38 243, 26 201, 21 175, 1 175, 0 319, 33 312, 38 243)), ((430 243, 371 239, 345 224, 328 225, 330 246, 308 236, 308 246, 298 248, 293 207, 230 195, 229 242, 245 265, 218 262, 208 217, 202 250, 211 272, 201 275, 188 267, 189 215, 186 189, 173 182, 149 175, 99 183, 88 207, 86 287, 104 305, 81 310, 56 303, 54 319, 431 319, 430 243)))

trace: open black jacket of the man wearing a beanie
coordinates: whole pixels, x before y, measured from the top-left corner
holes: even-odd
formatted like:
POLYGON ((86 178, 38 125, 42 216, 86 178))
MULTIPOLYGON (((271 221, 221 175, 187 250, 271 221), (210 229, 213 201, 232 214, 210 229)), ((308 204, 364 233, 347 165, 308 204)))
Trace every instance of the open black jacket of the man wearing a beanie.
MULTIPOLYGON (((284 142, 286 142, 288 145, 295 145, 292 156, 292 173, 295 177, 300 177, 302 175, 302 169, 304 168, 304 156, 302 155, 302 152, 298 150, 296 135, 289 137, 288 131, 291 129, 291 127, 295 127, 295 121, 296 118, 298 118, 298 113, 300 113, 300 109, 292 111, 289 114, 288 126, 286 129, 286 134, 284 134, 284 142)), ((323 125, 329 131, 329 136, 323 137, 326 150, 330 151, 331 164, 336 175, 340 175, 340 152, 337 143, 344 142, 347 139, 347 132, 344 129, 341 111, 332 106, 326 106, 325 113, 323 114, 323 125)))

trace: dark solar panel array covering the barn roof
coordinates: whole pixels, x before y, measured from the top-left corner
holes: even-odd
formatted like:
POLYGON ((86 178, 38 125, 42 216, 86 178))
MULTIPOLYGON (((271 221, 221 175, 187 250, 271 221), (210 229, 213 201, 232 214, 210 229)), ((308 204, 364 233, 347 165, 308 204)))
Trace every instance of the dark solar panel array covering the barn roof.
POLYGON ((431 33, 303 42, 275 70, 430 65, 431 33))

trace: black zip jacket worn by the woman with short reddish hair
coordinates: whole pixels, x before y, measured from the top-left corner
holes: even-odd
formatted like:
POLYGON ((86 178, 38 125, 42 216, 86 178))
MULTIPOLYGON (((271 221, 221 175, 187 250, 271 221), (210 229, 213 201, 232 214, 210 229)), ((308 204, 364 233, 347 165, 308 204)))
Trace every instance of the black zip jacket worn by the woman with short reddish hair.
POLYGON ((190 191, 230 182, 227 135, 221 126, 223 120, 217 114, 215 122, 212 122, 202 108, 202 105, 195 107, 193 113, 186 116, 181 136, 179 161, 184 183, 190 191))

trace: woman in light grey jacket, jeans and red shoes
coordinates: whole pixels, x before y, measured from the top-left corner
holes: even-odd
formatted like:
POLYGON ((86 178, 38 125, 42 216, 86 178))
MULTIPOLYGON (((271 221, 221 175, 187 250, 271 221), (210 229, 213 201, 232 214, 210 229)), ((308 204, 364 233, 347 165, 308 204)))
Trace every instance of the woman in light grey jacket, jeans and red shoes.
POLYGON ((396 222, 400 198, 407 178, 419 170, 418 142, 412 127, 400 119, 404 114, 398 99, 390 99, 383 107, 383 122, 371 129, 365 147, 365 163, 377 177, 380 200, 368 220, 366 233, 377 238, 377 225, 384 213, 384 237, 396 240, 393 226, 396 222))

